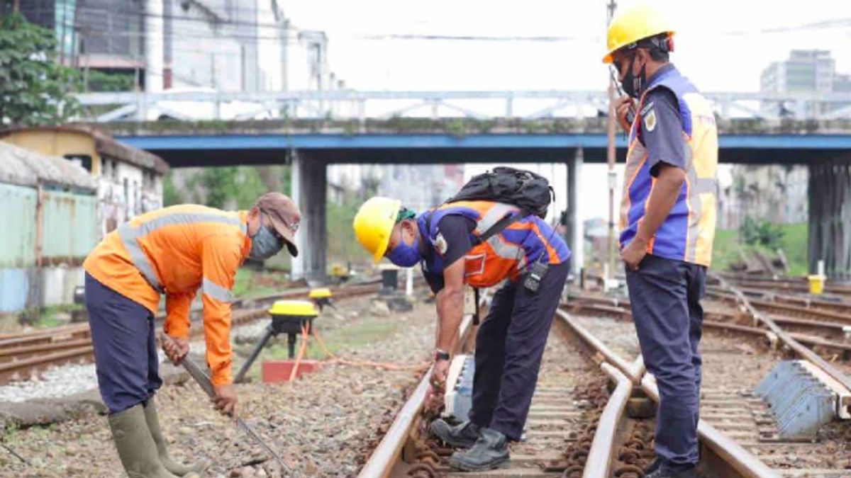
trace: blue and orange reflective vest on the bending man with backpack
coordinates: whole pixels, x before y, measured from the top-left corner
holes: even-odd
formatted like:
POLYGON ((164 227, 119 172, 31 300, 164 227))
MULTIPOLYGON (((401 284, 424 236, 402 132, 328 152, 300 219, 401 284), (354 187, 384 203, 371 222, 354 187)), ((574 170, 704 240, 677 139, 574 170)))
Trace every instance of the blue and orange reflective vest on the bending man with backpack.
POLYGON ((545 260, 552 265, 570 258, 570 250, 562 237, 538 216, 527 216, 501 230, 500 233, 477 243, 491 226, 508 214, 519 214, 517 206, 489 201, 461 201, 443 204, 420 214, 418 225, 426 245, 435 253, 426 258, 424 269, 431 274, 443 274, 443 260, 435 244, 439 241, 440 219, 458 214, 476 222, 471 233, 473 248, 465 254, 465 283, 472 287, 492 287, 505 279, 517 280, 526 265, 545 260))

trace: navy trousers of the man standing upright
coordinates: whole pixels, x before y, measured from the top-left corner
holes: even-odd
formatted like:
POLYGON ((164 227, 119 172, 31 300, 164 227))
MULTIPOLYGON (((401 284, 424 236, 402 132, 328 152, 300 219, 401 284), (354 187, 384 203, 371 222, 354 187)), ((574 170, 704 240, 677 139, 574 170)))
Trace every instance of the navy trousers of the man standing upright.
POLYGON ((648 372, 659 386, 656 456, 665 470, 698 462, 700 344, 706 268, 648 254, 626 267, 632 320, 648 372))

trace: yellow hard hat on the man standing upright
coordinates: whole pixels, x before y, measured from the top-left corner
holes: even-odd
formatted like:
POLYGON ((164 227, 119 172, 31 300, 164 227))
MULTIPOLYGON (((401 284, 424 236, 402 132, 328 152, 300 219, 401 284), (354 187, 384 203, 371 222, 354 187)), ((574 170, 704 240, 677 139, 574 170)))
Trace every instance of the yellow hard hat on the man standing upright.
POLYGON ((665 15, 648 4, 640 3, 620 10, 614 14, 612 22, 608 24, 606 34, 608 53, 603 57, 603 63, 611 63, 612 54, 620 48, 660 33, 673 35, 674 31, 665 19, 665 15))

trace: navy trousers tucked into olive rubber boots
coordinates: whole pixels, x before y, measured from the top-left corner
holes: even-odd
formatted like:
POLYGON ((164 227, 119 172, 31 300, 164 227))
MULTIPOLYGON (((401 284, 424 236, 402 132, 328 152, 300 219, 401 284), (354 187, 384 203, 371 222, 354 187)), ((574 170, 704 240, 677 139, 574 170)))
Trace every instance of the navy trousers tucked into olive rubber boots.
POLYGON ((142 304, 86 274, 86 309, 92 329, 100 396, 110 413, 146 404, 159 377, 154 316, 142 304))

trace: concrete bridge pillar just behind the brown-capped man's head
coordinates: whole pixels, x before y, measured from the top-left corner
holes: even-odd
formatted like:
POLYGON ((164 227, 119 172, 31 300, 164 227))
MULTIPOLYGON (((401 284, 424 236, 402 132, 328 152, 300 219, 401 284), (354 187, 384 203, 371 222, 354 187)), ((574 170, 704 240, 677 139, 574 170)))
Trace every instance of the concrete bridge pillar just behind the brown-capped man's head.
POLYGON ((293 279, 311 283, 325 281, 328 230, 325 227, 325 202, 328 176, 325 162, 296 151, 292 158, 292 197, 301 211, 296 234, 299 257, 293 258, 293 279))

